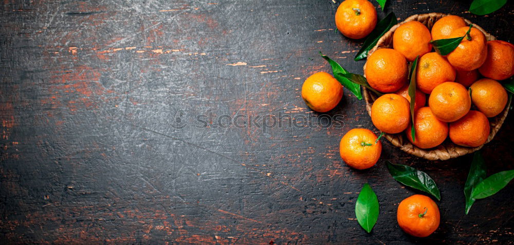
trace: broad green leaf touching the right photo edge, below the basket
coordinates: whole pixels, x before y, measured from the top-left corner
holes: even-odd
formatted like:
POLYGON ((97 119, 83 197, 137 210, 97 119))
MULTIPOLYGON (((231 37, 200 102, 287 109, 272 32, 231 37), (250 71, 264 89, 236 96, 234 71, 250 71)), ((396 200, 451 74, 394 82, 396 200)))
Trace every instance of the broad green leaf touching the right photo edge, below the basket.
POLYGON ((514 170, 501 171, 480 182, 471 191, 471 198, 482 199, 490 197, 503 189, 512 179, 514 179, 514 170))

